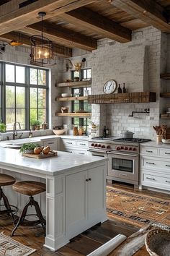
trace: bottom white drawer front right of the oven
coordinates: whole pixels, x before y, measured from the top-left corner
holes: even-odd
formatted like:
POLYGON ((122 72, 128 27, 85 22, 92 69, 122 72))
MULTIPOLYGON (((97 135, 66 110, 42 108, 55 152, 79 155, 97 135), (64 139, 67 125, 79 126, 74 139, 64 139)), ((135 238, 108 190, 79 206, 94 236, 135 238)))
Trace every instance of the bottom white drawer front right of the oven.
POLYGON ((170 176, 168 178, 166 176, 156 176, 144 173, 142 184, 155 188, 170 190, 170 176))

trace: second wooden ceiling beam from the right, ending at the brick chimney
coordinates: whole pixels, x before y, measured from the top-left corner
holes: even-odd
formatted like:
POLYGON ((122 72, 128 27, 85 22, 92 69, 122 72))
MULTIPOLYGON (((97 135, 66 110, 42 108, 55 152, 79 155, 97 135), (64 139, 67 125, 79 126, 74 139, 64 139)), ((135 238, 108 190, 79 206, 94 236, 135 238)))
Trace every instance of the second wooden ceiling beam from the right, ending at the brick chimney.
POLYGON ((74 25, 79 24, 79 26, 85 27, 97 35, 104 36, 104 38, 110 38, 120 43, 131 40, 131 30, 85 7, 64 13, 61 18, 74 25))

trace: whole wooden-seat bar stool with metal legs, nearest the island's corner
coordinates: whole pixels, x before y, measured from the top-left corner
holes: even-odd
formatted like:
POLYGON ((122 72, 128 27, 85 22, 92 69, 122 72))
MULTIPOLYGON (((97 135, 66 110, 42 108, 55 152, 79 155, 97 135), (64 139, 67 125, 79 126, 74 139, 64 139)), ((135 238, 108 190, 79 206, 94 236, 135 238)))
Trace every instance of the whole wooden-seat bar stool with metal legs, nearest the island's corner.
POLYGON ((40 210, 40 206, 38 205, 38 202, 34 200, 33 195, 37 195, 40 194, 41 192, 45 192, 46 188, 45 188, 45 184, 42 182, 33 182, 33 181, 24 181, 24 182, 17 182, 15 183, 12 188, 14 189, 14 191, 23 194, 23 195, 28 195, 30 197, 29 202, 27 202, 27 204, 24 206, 21 215, 19 216, 19 218, 17 219, 17 221, 14 221, 15 227, 12 230, 12 236, 14 236, 14 231, 17 230, 17 228, 20 225, 23 226, 35 226, 37 224, 41 224, 42 229, 45 233, 45 219, 42 216, 41 210, 40 210), (27 214, 27 208, 29 206, 34 206, 35 207, 35 212, 36 214, 27 214), (24 218, 26 216, 37 216, 38 220, 37 221, 27 221, 26 219, 24 220, 24 218))

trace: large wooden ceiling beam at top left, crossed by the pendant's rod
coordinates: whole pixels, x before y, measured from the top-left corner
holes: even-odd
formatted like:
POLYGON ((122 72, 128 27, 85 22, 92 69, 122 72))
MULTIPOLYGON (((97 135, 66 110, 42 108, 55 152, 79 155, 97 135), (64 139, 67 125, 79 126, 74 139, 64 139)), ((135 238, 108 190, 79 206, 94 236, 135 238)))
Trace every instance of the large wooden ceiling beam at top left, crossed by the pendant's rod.
POLYGON ((38 12, 46 12, 43 20, 91 4, 97 0, 12 0, 0 6, 0 35, 36 23, 38 12), (24 4, 27 4, 24 6, 24 4))

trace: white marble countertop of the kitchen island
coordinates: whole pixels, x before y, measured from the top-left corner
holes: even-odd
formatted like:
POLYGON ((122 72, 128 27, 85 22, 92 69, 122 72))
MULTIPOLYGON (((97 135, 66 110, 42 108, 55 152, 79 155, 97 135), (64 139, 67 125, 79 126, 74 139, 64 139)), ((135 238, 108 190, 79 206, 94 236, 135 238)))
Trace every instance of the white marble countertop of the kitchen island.
MULTIPOLYGON (((17 168, 18 170, 35 171, 41 174, 56 175, 65 171, 78 170, 91 166, 91 163, 105 163, 106 158, 98 156, 79 155, 58 151, 58 156, 49 158, 28 158, 22 156, 19 150, 0 148, 0 168, 17 168)), ((22 172, 22 171, 21 171, 22 172)))

